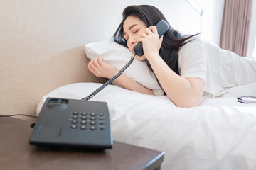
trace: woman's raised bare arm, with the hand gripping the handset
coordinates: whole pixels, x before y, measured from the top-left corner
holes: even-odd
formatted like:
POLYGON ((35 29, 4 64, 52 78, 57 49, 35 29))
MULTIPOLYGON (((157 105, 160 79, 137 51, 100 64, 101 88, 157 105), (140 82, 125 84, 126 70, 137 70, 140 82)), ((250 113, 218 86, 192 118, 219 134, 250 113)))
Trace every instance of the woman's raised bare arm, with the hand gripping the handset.
POLYGON ((204 81, 198 77, 183 78, 176 74, 159 55, 163 36, 159 39, 156 26, 146 28, 141 41, 144 56, 171 101, 179 107, 198 106, 203 95, 204 81))

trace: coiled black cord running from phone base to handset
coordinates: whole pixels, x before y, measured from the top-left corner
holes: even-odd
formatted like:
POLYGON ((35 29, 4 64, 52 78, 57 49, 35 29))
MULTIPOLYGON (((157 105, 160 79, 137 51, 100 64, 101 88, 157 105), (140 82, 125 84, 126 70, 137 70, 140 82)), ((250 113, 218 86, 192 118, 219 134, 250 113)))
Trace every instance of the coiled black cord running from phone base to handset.
MULTIPOLYGON (((136 55, 136 54, 135 54, 136 55)), ((92 94, 90 94, 89 96, 82 98, 82 101, 89 101, 90 98, 92 98, 93 96, 95 96, 97 93, 99 93, 102 89, 104 89, 107 85, 111 84, 112 81, 114 81, 115 79, 117 79, 117 77, 119 77, 122 72, 124 72, 125 69, 127 69, 127 67, 129 67, 130 64, 132 64, 133 60, 134 60, 134 56, 131 57, 131 60, 129 60, 129 62, 111 79, 109 79, 107 82, 105 82, 105 84, 102 84, 102 86, 100 86, 98 89, 96 89, 95 91, 92 92, 92 94)))

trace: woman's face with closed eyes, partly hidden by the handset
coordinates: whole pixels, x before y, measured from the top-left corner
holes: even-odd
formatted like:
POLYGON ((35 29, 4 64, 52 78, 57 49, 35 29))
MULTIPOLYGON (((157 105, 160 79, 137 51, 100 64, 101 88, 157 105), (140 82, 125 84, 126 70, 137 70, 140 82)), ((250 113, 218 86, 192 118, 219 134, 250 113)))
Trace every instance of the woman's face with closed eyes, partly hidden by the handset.
MULTIPOLYGON (((124 39, 127 40, 127 46, 129 50, 134 54, 133 48, 137 45, 137 40, 139 39, 141 33, 145 33, 146 24, 141 21, 139 18, 135 16, 128 16, 127 19, 124 21, 124 39)), ((136 55, 137 56, 137 55, 136 55)), ((144 55, 137 58, 140 61, 146 59, 144 55)))

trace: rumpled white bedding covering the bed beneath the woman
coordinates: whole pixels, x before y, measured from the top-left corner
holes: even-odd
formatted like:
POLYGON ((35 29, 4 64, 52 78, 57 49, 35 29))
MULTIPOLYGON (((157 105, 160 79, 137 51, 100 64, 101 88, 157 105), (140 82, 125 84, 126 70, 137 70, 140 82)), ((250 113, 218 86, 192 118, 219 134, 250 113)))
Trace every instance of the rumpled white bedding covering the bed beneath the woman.
MULTIPOLYGON (((42 98, 37 114, 47 97, 81 99, 100 85, 61 86, 42 98)), ((256 103, 238 103, 237 96, 256 96, 256 84, 202 98, 193 108, 114 85, 91 101, 107 102, 114 140, 164 151, 163 170, 256 169, 256 103)))

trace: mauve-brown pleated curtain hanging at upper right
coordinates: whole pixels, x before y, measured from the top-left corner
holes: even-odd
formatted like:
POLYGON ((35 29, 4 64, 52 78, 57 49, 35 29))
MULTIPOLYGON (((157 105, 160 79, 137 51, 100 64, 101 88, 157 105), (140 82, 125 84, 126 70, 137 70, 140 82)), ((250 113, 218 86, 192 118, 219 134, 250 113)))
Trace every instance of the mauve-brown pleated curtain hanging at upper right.
POLYGON ((220 47, 247 55, 252 0, 225 0, 220 47))

